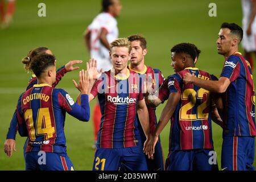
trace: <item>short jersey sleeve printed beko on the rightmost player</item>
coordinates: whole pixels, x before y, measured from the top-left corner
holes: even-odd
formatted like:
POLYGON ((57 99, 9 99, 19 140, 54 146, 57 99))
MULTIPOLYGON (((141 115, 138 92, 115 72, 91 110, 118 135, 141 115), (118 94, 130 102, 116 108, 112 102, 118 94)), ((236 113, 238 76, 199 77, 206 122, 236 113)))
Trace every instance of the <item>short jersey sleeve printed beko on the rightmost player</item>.
POLYGON ((229 78, 230 82, 236 80, 240 74, 239 58, 235 55, 229 56, 222 69, 221 77, 229 78))

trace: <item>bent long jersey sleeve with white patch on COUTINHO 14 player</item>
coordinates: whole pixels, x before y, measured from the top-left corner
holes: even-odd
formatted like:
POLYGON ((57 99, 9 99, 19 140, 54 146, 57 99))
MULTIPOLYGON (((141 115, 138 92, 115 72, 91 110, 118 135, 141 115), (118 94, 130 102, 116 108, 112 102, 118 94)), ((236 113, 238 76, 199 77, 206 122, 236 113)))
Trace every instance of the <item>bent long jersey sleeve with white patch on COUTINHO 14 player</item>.
POLYGON ((67 111, 68 114, 79 119, 80 121, 89 121, 90 119, 90 106, 89 97, 87 94, 81 94, 81 106, 73 101, 63 89, 58 89, 58 102, 62 109, 67 111))

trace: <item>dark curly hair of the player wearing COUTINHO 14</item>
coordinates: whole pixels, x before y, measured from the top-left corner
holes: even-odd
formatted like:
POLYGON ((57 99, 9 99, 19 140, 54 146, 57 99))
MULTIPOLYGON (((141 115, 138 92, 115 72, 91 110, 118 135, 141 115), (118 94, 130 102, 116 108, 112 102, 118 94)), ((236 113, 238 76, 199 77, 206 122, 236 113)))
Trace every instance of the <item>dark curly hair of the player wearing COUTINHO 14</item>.
POLYGON ((55 56, 48 55, 47 53, 35 56, 31 60, 31 70, 34 72, 36 77, 46 71, 49 66, 55 65, 55 56))

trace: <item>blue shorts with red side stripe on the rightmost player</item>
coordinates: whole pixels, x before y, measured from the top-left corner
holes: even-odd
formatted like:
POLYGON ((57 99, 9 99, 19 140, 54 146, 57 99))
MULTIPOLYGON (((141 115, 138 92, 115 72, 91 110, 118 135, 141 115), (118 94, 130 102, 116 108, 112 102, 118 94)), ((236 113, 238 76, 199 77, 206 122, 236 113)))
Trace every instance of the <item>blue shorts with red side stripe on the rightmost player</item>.
POLYGON ((254 171, 255 137, 223 137, 221 169, 254 171))

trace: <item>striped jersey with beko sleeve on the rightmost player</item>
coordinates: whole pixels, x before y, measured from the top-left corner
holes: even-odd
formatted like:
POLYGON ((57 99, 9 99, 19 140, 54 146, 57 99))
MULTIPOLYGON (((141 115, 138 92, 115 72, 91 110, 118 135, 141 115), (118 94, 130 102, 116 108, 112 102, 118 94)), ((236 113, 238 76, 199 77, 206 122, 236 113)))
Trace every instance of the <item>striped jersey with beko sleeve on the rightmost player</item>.
POLYGON ((230 80, 224 97, 223 135, 256 136, 255 89, 250 63, 240 52, 236 52, 225 61, 221 77, 230 80))

